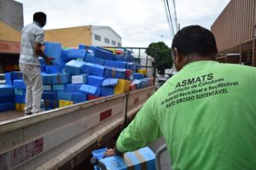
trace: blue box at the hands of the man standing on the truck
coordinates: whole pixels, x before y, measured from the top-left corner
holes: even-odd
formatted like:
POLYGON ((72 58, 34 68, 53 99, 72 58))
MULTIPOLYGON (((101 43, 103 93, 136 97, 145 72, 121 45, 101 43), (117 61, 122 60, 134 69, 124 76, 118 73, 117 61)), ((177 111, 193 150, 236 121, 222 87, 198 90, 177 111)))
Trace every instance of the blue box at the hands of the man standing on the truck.
POLYGON ((58 71, 63 69, 63 60, 61 59, 61 43, 44 42, 44 54, 54 58, 52 63, 57 66, 58 71))

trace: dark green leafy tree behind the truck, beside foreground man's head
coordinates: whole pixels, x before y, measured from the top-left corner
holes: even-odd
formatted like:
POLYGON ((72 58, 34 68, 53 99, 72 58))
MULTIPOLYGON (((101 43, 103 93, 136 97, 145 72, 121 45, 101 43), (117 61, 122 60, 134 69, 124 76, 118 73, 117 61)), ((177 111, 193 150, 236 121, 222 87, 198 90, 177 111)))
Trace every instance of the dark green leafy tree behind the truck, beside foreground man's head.
POLYGON ((168 48, 165 42, 150 43, 146 49, 146 54, 154 58, 154 65, 160 74, 165 74, 165 69, 172 68, 171 48, 168 48))

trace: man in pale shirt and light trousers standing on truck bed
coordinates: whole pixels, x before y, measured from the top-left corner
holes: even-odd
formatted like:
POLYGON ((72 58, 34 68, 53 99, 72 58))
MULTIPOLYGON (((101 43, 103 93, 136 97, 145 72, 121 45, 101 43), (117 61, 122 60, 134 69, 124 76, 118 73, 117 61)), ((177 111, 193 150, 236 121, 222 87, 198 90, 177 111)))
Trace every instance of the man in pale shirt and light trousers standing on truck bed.
POLYGON ((41 49, 44 45, 44 27, 46 14, 33 14, 33 22, 25 26, 21 32, 20 42, 20 71, 26 83, 25 115, 41 111, 40 102, 43 94, 41 66, 38 57, 44 58, 45 63, 51 65, 52 58, 46 56, 41 49))

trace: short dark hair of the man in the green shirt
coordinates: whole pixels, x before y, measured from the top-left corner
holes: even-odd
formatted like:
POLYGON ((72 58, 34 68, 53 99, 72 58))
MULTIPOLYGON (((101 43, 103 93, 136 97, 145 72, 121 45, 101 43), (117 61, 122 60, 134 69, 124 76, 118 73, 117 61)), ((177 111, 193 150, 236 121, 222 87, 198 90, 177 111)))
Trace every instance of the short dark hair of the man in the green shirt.
POLYGON ((198 54, 201 57, 216 56, 218 49, 212 32, 201 26, 186 26, 172 40, 172 50, 187 56, 198 54))

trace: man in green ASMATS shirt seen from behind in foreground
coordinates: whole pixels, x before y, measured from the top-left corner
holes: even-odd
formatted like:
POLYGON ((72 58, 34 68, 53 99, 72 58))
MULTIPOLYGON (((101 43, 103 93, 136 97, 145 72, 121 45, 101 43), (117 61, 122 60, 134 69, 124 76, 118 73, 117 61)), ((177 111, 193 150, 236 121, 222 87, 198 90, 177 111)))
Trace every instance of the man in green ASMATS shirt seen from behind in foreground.
POLYGON ((105 155, 164 136, 172 169, 256 169, 256 68, 215 61, 215 38, 201 26, 178 31, 172 52, 177 74, 105 155))

